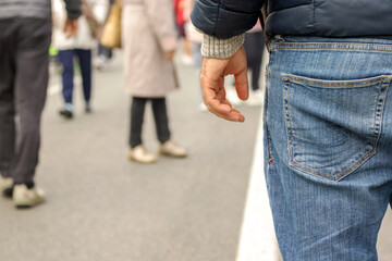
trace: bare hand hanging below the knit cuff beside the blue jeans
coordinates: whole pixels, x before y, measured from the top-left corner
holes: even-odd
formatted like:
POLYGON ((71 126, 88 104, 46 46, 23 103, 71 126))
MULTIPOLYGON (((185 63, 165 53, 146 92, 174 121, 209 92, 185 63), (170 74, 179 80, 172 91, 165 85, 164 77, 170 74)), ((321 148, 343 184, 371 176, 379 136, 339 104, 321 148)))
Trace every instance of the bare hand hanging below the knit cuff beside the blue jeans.
POLYGON ((240 48, 229 59, 204 58, 200 84, 204 101, 210 112, 233 122, 244 122, 245 117, 226 99, 224 76, 233 74, 235 89, 241 100, 248 98, 247 64, 244 48, 240 48))

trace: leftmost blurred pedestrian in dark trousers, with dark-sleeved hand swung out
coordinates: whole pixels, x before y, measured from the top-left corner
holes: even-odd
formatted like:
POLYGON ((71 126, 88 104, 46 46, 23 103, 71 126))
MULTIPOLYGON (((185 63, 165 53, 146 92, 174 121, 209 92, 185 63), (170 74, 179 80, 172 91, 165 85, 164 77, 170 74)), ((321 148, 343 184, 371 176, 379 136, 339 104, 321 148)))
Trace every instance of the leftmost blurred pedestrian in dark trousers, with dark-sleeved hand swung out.
MULTIPOLYGON (((64 32, 77 30, 79 0, 64 0, 64 32)), ((35 186, 51 40, 50 0, 0 1, 0 190, 15 207, 45 201, 35 186), (12 192, 13 191, 13 192, 12 192)))

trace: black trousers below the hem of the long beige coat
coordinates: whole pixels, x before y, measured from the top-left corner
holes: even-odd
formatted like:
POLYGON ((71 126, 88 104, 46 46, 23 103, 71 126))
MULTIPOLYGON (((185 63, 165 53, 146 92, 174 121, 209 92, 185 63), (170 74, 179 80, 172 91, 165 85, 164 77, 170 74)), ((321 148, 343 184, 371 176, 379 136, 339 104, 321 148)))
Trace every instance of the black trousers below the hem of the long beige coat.
POLYGON ((163 144, 170 139, 169 120, 164 98, 133 97, 131 107, 130 146, 135 148, 142 145, 142 128, 147 101, 152 103, 152 113, 156 124, 158 140, 163 144))

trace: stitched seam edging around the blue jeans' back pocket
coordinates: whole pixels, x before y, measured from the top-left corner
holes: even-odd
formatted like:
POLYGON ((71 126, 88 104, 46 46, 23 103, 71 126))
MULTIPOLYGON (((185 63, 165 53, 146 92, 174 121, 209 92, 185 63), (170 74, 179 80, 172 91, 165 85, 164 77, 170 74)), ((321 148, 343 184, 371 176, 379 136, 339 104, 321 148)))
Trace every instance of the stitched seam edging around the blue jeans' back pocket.
MULTIPOLYGON (((289 107, 289 97, 290 97, 290 86, 289 83, 291 82, 291 79, 294 79, 292 82, 296 82, 295 79, 302 79, 298 80, 299 83, 311 83, 313 80, 307 80, 306 78, 302 78, 298 76, 293 76, 293 75, 287 75, 287 74, 282 74, 282 79, 284 80, 284 94, 283 94, 283 108, 284 108, 284 112, 285 112, 285 126, 286 126, 286 133, 287 133, 287 150, 289 150, 289 158, 290 158, 290 164, 301 171, 304 171, 306 173, 319 176, 319 177, 323 177, 330 181, 335 181, 339 182, 340 179, 344 178, 345 176, 347 176, 348 174, 351 174, 352 172, 354 172, 356 169, 358 169, 365 161, 367 161, 371 156, 373 156, 377 152, 377 144, 381 134, 381 123, 382 123, 382 114, 383 114, 383 108, 384 108, 384 103, 387 100, 387 94, 388 94, 388 89, 389 86, 391 84, 392 80, 392 76, 378 76, 375 77, 372 79, 368 79, 366 80, 364 84, 367 84, 367 86, 370 85, 375 85, 378 83, 381 83, 381 87, 379 89, 379 94, 377 96, 377 103, 376 103, 376 110, 375 110, 375 119, 373 119, 373 132, 372 132, 372 139, 371 142, 369 144, 372 149, 368 152, 366 152, 364 156, 362 156, 360 159, 358 160, 353 160, 352 163, 347 164, 347 170, 345 170, 344 172, 340 173, 338 176, 329 176, 326 175, 323 173, 320 173, 318 171, 311 170, 309 167, 303 166, 302 164, 299 164, 298 162, 294 161, 294 140, 293 140, 293 126, 291 125, 292 121, 291 121, 291 116, 290 116, 290 107, 289 107), (354 164, 353 164, 354 163, 354 164), (350 164, 352 164, 350 166, 350 164)), ((340 82, 342 83, 342 82, 340 82)), ((343 82, 344 83, 344 82, 343 82)), ((352 84, 354 83, 360 83, 360 80, 355 80, 355 82, 350 82, 352 84)), ((314 83, 313 83, 314 84, 314 83)), ((327 84, 327 83, 326 83, 327 84)), ((338 84, 338 83, 336 83, 338 84)), ((333 86, 333 85, 331 85, 333 86)))

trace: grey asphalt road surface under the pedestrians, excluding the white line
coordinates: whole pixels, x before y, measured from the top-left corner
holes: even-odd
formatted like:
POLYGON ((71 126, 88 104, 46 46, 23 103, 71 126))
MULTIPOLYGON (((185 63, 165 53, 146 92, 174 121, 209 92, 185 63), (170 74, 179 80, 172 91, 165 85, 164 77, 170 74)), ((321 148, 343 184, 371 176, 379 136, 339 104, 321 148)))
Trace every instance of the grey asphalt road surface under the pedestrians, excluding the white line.
MULTIPOLYGON (((168 97, 170 126, 189 157, 130 162, 130 98, 115 54, 110 70, 95 72, 93 114, 76 88, 72 121, 58 115, 52 74, 36 178, 48 201, 15 210, 0 200, 0 261, 235 261, 260 107, 240 105, 243 124, 200 112, 195 72, 177 64, 182 87, 168 97)), ((144 127, 146 147, 157 151, 149 107, 144 127)), ((391 231, 389 210, 381 261, 392 260, 391 231)))

